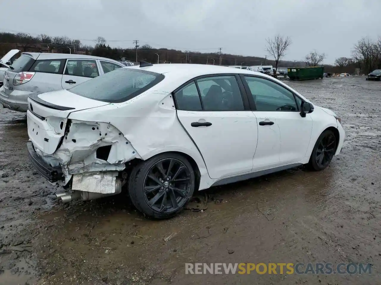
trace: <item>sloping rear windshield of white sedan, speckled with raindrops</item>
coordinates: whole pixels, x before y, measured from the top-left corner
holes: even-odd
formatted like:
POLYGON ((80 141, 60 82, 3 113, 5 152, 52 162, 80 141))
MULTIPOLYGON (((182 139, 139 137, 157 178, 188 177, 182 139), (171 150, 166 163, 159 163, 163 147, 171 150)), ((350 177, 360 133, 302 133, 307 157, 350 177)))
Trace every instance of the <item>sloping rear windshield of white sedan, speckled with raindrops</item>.
POLYGON ((134 68, 119 68, 68 90, 93 100, 120 103, 143 93, 163 79, 163 74, 134 68))

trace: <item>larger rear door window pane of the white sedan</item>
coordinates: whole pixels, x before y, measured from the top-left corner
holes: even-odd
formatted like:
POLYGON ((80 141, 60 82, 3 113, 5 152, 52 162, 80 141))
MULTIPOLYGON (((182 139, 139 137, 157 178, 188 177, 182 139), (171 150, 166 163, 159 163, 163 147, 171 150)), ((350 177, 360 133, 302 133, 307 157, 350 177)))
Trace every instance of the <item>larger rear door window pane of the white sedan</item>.
POLYGON ((234 75, 196 80, 204 111, 243 111, 243 100, 234 75))

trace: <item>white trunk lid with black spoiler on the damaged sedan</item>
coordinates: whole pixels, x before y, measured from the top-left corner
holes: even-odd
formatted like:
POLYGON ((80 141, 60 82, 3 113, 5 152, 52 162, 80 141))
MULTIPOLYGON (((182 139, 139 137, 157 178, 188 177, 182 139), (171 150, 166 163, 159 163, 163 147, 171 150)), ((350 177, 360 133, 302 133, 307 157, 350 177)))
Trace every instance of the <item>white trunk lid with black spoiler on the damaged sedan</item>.
POLYGON ((29 140, 46 154, 53 154, 65 135, 70 113, 108 104, 68 90, 31 95, 27 111, 29 140))

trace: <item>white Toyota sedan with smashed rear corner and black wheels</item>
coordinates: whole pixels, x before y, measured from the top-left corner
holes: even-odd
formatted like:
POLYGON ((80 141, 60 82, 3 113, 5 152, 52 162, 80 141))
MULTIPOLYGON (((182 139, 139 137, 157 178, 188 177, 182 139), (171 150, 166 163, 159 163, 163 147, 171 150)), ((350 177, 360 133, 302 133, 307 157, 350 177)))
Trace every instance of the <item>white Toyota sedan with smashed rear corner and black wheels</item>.
POLYGON ((307 165, 326 168, 344 130, 283 82, 214 65, 120 68, 30 96, 29 158, 64 202, 126 188, 148 217, 181 211, 194 191, 307 165))

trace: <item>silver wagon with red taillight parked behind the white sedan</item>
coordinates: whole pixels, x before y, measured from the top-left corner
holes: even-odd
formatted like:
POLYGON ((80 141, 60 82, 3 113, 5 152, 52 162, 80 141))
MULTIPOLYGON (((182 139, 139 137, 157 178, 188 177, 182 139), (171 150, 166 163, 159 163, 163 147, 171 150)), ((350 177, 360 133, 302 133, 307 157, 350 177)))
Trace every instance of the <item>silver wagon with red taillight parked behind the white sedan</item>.
POLYGON ((68 89, 121 67, 116 60, 91 55, 22 52, 4 74, 0 105, 26 112, 29 95, 68 89))

